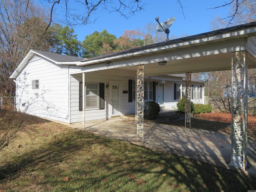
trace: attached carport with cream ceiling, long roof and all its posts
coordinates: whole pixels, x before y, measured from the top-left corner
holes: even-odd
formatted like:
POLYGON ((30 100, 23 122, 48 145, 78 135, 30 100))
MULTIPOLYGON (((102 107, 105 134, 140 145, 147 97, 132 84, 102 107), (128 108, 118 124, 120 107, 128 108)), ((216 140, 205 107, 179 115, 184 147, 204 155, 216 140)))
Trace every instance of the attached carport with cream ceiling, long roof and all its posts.
POLYGON ((124 73, 137 77, 137 141, 144 140, 144 76, 186 74, 186 118, 190 127, 191 73, 232 70, 232 155, 230 166, 247 164, 247 69, 256 67, 256 22, 90 58, 80 64, 88 72, 124 73), (159 63, 162 62, 162 63, 159 63), (162 65, 160 65, 162 64, 162 65))

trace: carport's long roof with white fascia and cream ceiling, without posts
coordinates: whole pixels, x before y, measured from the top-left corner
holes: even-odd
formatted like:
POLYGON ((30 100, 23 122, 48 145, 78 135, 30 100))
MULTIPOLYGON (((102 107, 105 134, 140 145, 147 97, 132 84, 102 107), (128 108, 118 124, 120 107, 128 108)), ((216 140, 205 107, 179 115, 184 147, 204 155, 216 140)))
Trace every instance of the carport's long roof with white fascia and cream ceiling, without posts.
POLYGON ((232 52, 243 50, 248 52, 248 67, 256 67, 256 22, 89 58, 78 66, 84 66, 81 72, 135 72, 144 64, 144 75, 230 70, 232 52), (166 66, 159 66, 160 61, 166 66))

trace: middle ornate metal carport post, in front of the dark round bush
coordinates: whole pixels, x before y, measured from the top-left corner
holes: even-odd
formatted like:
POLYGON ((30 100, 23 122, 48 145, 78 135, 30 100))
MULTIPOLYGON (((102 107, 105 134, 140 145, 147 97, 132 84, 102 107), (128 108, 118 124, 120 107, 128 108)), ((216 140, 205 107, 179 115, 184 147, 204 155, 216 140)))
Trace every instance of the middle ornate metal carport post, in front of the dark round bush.
POLYGON ((144 65, 137 67, 137 142, 142 139, 144 143, 144 65))

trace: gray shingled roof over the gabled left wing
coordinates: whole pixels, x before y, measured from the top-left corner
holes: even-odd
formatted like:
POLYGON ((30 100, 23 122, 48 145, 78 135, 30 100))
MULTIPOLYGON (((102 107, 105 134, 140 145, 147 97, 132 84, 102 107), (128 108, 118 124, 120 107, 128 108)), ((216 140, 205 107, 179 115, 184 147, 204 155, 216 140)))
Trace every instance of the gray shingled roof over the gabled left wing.
POLYGON ((73 62, 73 61, 87 60, 86 58, 82 58, 82 57, 68 56, 68 55, 62 55, 62 54, 46 52, 46 51, 39 51, 39 50, 33 50, 33 49, 32 51, 37 52, 38 54, 44 55, 47 58, 54 60, 56 62, 73 62))

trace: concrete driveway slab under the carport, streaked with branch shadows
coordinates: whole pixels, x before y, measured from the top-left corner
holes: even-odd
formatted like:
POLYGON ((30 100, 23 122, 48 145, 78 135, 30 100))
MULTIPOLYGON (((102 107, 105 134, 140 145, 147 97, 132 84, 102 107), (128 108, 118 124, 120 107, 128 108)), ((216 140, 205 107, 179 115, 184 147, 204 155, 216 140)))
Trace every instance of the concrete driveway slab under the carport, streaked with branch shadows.
MULTIPOLYGON (((82 123, 68 125, 82 129, 82 123)), ((144 144, 136 136, 136 121, 114 119, 86 124, 87 132, 124 140, 162 152, 177 154, 223 168, 230 168, 231 135, 144 122, 144 144)), ((256 138, 248 138, 248 169, 256 176, 256 138)))

